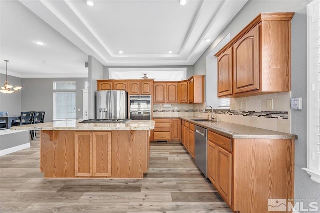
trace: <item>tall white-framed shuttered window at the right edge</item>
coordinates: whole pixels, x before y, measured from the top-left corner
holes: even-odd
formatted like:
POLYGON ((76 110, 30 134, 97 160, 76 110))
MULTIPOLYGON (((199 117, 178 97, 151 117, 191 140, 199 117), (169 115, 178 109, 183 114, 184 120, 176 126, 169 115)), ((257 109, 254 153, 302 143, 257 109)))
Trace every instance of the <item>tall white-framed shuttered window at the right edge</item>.
POLYGON ((307 5, 307 168, 320 183, 320 1, 307 5))

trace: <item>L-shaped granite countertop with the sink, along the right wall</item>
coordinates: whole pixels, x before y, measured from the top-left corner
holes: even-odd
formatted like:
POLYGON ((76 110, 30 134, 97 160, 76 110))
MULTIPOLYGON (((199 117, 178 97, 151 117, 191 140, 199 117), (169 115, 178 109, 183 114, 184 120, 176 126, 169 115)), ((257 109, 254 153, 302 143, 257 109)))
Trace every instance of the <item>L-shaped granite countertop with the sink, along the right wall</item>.
MULTIPOLYGON (((177 118, 169 116, 155 116, 153 118, 177 118)), ((204 127, 212 132, 223 135, 227 138, 270 138, 270 139, 297 139, 298 136, 294 134, 277 132, 267 129, 239 125, 229 122, 212 122, 212 121, 193 121, 191 119, 202 118, 198 116, 179 116, 187 122, 204 127)), ((205 118, 202 118, 205 119, 205 118)))

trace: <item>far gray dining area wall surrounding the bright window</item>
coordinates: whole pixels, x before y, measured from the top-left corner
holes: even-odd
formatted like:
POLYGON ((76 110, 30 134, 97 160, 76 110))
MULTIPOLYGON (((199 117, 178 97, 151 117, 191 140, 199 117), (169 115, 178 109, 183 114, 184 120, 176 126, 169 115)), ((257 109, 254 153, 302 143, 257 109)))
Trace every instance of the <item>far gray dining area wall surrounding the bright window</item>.
POLYGON ((88 81, 88 78, 22 78, 22 106, 20 105, 22 111, 45 111, 44 122, 52 121, 53 81, 76 82, 76 119, 82 119, 82 89, 84 89, 84 82, 88 81), (77 109, 81 109, 81 111, 77 111, 77 109))

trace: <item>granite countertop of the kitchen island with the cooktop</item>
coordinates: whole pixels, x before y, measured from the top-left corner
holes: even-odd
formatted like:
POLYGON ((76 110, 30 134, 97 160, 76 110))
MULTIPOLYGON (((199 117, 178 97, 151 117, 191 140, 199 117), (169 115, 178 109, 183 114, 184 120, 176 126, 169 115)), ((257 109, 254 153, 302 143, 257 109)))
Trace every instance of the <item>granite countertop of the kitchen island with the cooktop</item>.
POLYGON ((11 130, 151 130, 154 121, 128 123, 79 123, 82 120, 63 120, 11 127, 11 130))

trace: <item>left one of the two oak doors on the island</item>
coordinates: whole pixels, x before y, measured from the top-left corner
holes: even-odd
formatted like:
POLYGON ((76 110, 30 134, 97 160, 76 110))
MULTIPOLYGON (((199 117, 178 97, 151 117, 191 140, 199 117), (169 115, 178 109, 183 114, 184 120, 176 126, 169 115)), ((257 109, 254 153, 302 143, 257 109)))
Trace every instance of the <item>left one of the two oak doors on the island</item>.
POLYGON ((92 176, 92 133, 74 133, 75 176, 92 176))

